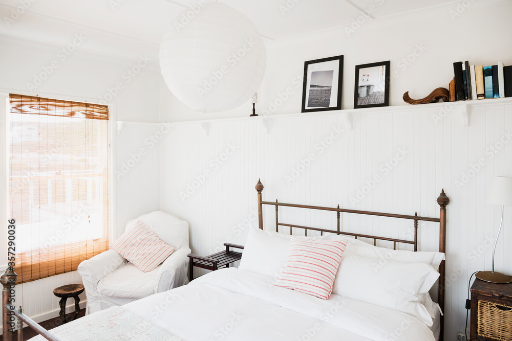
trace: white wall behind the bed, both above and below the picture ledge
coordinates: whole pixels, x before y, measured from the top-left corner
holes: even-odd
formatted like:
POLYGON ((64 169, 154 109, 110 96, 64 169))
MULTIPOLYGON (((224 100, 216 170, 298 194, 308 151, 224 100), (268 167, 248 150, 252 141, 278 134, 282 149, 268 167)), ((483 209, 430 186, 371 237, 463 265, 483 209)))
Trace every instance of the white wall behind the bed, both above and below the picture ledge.
MULTIPOLYGON (((495 237, 500 210, 486 203, 487 189, 494 175, 512 176, 512 147, 507 137, 512 132, 510 101, 472 103, 471 124, 463 127, 460 104, 450 109, 445 104, 410 106, 402 100, 406 91, 412 98, 423 98, 436 87, 447 87, 454 61, 512 63, 512 46, 506 43, 506 32, 512 29, 512 2, 458 10, 460 15, 454 16, 457 4, 451 4, 421 14, 366 21, 350 35, 342 27, 268 42, 267 71, 257 104, 257 113, 268 116, 258 119, 244 120, 251 113, 249 102, 221 113, 194 112, 163 85, 161 120, 197 122, 174 128, 162 145, 160 163, 161 208, 180 208, 180 218, 190 224, 193 252, 207 255, 219 251, 226 240, 244 243, 247 226, 257 225, 251 210, 256 208, 254 185, 259 177, 266 187, 266 200, 339 203, 346 208, 402 214, 418 211, 429 216, 438 215, 436 198, 444 188, 451 199, 445 339, 455 339, 464 328, 470 275, 490 269, 492 245, 486 238, 495 237), (338 116, 319 113, 289 118, 272 114, 301 111, 304 61, 340 54, 345 56, 342 108, 353 107, 355 65, 385 60, 391 61, 391 107, 348 110, 353 113, 353 130, 344 131, 321 152, 315 146, 325 141, 334 127, 343 127, 347 111, 338 116), (217 118, 237 120, 199 122, 217 118), (506 141, 504 146, 501 139, 506 141), (237 149, 220 164, 216 158, 230 144, 237 149), (491 151, 498 147, 496 153, 491 151), (386 163, 400 149, 407 151, 406 157, 385 174, 381 167, 386 170, 386 163), (286 176, 293 178, 294 169, 308 164, 305 160, 311 153, 315 160, 288 184, 286 176), (479 160, 485 165, 473 173, 479 160), (381 180, 372 185, 369 181, 375 175, 381 180), (367 187, 372 187, 368 194, 359 201, 351 200, 367 187)), ((272 226, 273 216, 274 210, 267 209, 267 226, 272 226)), ((318 226, 335 222, 321 214, 289 217, 318 226)), ((506 209, 505 221, 511 219, 512 210, 506 209)), ((408 231, 408 226, 389 221, 344 220, 346 229, 362 232, 376 232, 382 225, 386 234, 408 231)), ((421 232, 420 249, 433 250, 438 234, 428 229, 426 226, 421 232)), ((508 261, 512 253, 506 247, 510 242, 512 234, 505 230, 496 251, 497 270, 508 274, 512 273, 508 261)))

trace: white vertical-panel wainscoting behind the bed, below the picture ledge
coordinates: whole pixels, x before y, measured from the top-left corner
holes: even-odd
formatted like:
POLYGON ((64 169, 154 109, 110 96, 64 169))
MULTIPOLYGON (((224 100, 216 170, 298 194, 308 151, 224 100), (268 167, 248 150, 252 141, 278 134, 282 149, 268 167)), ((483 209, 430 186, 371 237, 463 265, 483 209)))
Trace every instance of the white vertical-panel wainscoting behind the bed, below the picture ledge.
MULTIPOLYGON (((257 226, 258 178, 264 200, 433 217, 439 216, 436 198, 444 188, 451 200, 445 338, 453 339, 464 328, 470 275, 490 269, 493 249, 486 239, 497 233, 500 208, 485 197, 494 175, 512 176, 512 104, 485 100, 351 112, 351 128, 345 110, 176 123, 160 146, 161 209, 187 220, 193 253, 208 255, 225 241, 244 244, 248 226, 257 226)), ((266 229, 273 229, 274 213, 264 209, 266 229)), ((512 221, 511 210, 505 214, 512 221)), ((285 208, 280 220, 336 226, 329 212, 285 208)), ((436 250, 437 226, 420 224, 420 251, 436 250)), ((342 215, 344 231, 407 237, 412 227, 342 215)), ((505 229, 496 269, 508 274, 510 243, 512 229, 505 229)))

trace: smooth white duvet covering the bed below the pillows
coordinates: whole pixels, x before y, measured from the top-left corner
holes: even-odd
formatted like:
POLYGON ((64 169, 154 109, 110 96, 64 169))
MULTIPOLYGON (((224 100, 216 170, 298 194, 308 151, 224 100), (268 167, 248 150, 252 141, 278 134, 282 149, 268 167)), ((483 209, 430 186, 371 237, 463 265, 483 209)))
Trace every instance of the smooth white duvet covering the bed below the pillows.
POLYGON ((188 341, 435 340, 409 314, 338 295, 321 300, 237 268, 124 307, 188 341))

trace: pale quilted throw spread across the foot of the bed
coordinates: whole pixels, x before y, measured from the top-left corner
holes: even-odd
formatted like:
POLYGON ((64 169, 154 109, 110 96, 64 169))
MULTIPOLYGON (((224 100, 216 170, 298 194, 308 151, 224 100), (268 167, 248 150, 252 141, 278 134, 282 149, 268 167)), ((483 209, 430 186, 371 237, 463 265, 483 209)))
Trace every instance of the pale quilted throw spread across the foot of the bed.
MULTIPOLYGON (((111 307, 83 316, 50 332, 66 341, 183 341, 178 336, 122 307, 111 307)), ((30 341, 39 340, 44 341, 45 338, 37 335, 30 339, 30 341)))

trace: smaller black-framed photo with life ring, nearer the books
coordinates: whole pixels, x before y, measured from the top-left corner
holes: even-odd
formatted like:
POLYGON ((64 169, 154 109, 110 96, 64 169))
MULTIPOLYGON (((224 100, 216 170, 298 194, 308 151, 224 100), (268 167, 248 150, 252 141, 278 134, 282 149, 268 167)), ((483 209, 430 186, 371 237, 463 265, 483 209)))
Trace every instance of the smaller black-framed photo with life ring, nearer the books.
POLYGON ((390 61, 355 66, 354 109, 389 105, 390 61))

